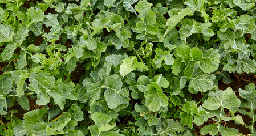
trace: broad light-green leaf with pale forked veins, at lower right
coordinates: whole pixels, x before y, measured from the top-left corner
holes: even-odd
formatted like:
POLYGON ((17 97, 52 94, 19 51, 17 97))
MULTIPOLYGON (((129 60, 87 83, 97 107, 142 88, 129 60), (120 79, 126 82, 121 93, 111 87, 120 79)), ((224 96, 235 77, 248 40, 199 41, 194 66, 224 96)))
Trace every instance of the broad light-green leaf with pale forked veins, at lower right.
POLYGON ((240 100, 235 96, 231 88, 222 91, 210 92, 207 100, 204 101, 203 107, 209 110, 218 108, 229 109, 231 114, 234 114, 240 106, 240 100))

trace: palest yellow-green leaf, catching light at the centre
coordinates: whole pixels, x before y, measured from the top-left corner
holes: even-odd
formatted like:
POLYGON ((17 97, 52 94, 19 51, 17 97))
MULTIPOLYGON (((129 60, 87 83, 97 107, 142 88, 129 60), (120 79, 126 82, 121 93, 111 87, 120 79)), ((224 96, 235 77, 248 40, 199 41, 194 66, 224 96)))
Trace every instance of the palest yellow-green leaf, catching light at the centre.
POLYGON ((142 62, 138 62, 137 58, 135 56, 131 58, 125 58, 123 59, 121 65, 120 65, 120 74, 121 76, 125 76, 129 74, 131 71, 136 69, 143 69, 145 65, 142 62))

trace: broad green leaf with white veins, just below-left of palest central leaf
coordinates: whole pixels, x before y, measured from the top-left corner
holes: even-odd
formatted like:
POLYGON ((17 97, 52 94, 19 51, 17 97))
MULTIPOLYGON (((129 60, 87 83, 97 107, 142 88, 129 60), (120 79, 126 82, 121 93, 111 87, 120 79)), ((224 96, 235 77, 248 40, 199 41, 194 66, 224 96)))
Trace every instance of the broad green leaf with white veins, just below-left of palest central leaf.
POLYGON ((105 79, 103 88, 105 88, 104 97, 107 101, 108 108, 116 108, 120 104, 128 104, 129 93, 125 89, 121 89, 123 83, 118 75, 111 75, 105 79))

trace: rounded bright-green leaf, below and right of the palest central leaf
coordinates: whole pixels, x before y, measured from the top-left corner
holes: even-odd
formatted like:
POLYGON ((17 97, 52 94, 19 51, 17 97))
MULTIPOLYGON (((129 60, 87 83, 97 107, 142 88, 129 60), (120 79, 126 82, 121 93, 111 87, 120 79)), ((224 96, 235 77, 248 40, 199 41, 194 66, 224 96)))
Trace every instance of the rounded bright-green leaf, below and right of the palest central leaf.
POLYGON ((167 96, 156 82, 151 82, 151 84, 147 86, 144 97, 146 98, 146 106, 152 112, 159 111, 161 107, 168 105, 167 96))

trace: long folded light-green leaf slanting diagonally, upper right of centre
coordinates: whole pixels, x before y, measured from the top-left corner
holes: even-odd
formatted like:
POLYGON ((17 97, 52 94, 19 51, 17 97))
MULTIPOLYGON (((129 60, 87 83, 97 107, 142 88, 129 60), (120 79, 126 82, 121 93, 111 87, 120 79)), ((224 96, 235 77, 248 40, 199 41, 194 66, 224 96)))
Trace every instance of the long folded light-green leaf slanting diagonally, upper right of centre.
POLYGON ((182 18, 184 18, 187 15, 192 15, 193 13, 188 9, 177 9, 172 8, 168 11, 168 14, 170 18, 166 22, 166 26, 168 26, 168 29, 166 29, 164 33, 164 37, 180 22, 182 18))

